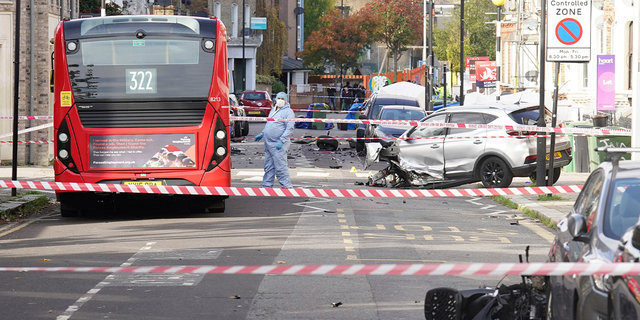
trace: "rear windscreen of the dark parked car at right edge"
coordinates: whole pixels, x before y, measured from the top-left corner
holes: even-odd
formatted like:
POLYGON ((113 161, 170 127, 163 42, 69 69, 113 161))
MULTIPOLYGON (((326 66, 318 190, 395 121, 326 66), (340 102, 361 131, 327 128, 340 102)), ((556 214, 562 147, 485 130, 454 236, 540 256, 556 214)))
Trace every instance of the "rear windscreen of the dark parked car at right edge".
POLYGON ((622 237, 640 217, 640 179, 616 180, 609 192, 604 217, 604 234, 613 239, 622 237))

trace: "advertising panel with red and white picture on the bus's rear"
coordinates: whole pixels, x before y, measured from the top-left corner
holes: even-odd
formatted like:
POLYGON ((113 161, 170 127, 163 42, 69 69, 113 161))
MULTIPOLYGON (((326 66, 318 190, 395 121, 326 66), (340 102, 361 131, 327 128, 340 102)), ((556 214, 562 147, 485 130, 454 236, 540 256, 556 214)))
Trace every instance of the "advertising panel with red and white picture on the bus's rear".
POLYGON ((195 169, 195 134, 90 136, 89 167, 195 169))

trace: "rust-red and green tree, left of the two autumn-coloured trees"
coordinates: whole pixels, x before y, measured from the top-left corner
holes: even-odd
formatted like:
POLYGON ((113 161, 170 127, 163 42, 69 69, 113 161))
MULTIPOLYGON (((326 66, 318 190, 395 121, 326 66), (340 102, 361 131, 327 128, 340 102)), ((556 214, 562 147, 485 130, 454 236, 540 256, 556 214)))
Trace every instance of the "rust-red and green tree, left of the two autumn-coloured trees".
POLYGON ((299 53, 314 69, 329 64, 337 70, 358 67, 360 56, 378 39, 379 20, 370 5, 348 17, 333 9, 320 20, 324 27, 311 33, 299 53))

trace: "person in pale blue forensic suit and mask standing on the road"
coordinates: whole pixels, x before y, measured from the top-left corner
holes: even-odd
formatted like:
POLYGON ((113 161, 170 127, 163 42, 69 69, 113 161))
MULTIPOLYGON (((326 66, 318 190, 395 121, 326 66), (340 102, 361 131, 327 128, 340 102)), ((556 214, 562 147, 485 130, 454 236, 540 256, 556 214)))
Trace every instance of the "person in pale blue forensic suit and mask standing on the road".
MULTIPOLYGON (((287 94, 279 92, 276 96, 275 108, 271 109, 269 118, 295 119, 295 117, 289 105, 287 94)), ((287 164, 287 152, 291 145, 289 137, 293 133, 293 126, 293 121, 267 121, 264 130, 255 137, 256 142, 264 137, 263 188, 273 188, 274 177, 278 178, 282 188, 293 188, 289 178, 289 165, 287 164)))

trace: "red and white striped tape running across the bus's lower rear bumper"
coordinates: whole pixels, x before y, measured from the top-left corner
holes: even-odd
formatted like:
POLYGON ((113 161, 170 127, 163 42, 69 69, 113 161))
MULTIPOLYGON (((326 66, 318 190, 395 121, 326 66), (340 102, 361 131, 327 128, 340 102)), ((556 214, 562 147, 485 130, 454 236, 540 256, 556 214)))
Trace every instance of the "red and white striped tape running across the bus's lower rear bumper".
POLYGON ((0 180, 0 188, 245 197, 434 198, 580 192, 581 185, 478 189, 277 189, 0 180))

